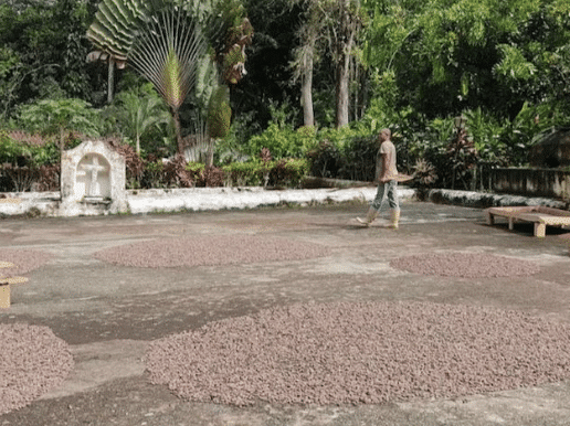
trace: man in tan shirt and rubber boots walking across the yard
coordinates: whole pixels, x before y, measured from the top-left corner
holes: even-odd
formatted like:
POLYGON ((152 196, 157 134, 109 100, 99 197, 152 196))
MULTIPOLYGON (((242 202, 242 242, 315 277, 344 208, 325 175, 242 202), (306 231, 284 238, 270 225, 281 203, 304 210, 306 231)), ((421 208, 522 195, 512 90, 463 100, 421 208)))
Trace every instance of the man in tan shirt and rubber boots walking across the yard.
POLYGON ((357 217, 362 225, 370 225, 377 217, 384 195, 390 205, 390 227, 398 228, 400 221, 400 204, 398 201, 398 170, 395 168, 395 147, 391 141, 392 132, 390 129, 382 129, 378 135, 380 149, 376 158, 376 173, 378 192, 372 201, 365 219, 357 217))

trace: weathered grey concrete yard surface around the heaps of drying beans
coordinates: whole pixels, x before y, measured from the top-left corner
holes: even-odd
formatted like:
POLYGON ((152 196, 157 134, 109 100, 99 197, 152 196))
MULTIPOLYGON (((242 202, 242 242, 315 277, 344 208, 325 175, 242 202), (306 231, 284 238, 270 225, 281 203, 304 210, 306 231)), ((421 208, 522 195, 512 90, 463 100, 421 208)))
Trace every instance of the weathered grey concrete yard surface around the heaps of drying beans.
MULTIPOLYGON (((253 407, 188 403, 150 385, 149 341, 209 321, 304 301, 415 300, 514 309, 570 321, 564 231, 532 236, 485 224, 482 210, 407 201, 401 227, 356 225, 362 204, 171 215, 3 220, 0 247, 54 255, 13 286, 0 322, 50 327, 71 344, 75 369, 0 425, 570 425, 570 383, 453 400, 358 406, 253 407), (325 244, 328 257, 268 264, 142 269, 92 254, 163 236, 264 234, 325 244), (442 278, 390 268, 404 254, 472 251, 530 259, 541 273, 517 278, 442 278)), ((570 354, 569 354, 570 356, 570 354)))

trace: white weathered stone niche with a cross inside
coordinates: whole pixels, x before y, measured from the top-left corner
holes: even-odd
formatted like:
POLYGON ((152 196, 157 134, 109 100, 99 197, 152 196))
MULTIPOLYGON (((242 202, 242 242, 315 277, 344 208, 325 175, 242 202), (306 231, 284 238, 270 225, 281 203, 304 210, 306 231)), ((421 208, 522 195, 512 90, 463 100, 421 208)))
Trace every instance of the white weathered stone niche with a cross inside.
POLYGON ((60 210, 63 215, 127 211, 125 158, 102 140, 63 152, 60 210))

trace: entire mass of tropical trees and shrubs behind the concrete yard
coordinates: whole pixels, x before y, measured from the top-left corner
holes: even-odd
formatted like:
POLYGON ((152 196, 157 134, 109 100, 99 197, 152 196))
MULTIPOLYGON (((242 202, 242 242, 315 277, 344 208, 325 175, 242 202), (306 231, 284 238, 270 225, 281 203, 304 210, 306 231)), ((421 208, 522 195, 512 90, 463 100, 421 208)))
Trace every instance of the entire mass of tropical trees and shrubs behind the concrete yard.
POLYGON ((465 187, 478 169, 526 163, 537 137, 570 124, 560 0, 10 0, 0 46, 12 162, 117 134, 156 170, 198 152, 209 182, 213 164, 257 164, 263 149, 366 179, 357 161, 390 127, 403 171, 465 187))

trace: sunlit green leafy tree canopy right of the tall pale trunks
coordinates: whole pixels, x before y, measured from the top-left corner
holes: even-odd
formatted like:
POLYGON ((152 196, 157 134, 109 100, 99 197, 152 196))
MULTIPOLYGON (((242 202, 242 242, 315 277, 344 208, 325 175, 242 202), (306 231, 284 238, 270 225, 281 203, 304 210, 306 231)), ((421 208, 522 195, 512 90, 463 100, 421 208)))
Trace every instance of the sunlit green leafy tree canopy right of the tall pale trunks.
POLYGON ((372 14, 366 62, 379 73, 395 75, 402 105, 431 116, 484 107, 514 117, 525 102, 568 95, 568 2, 365 0, 365 4, 372 14))

